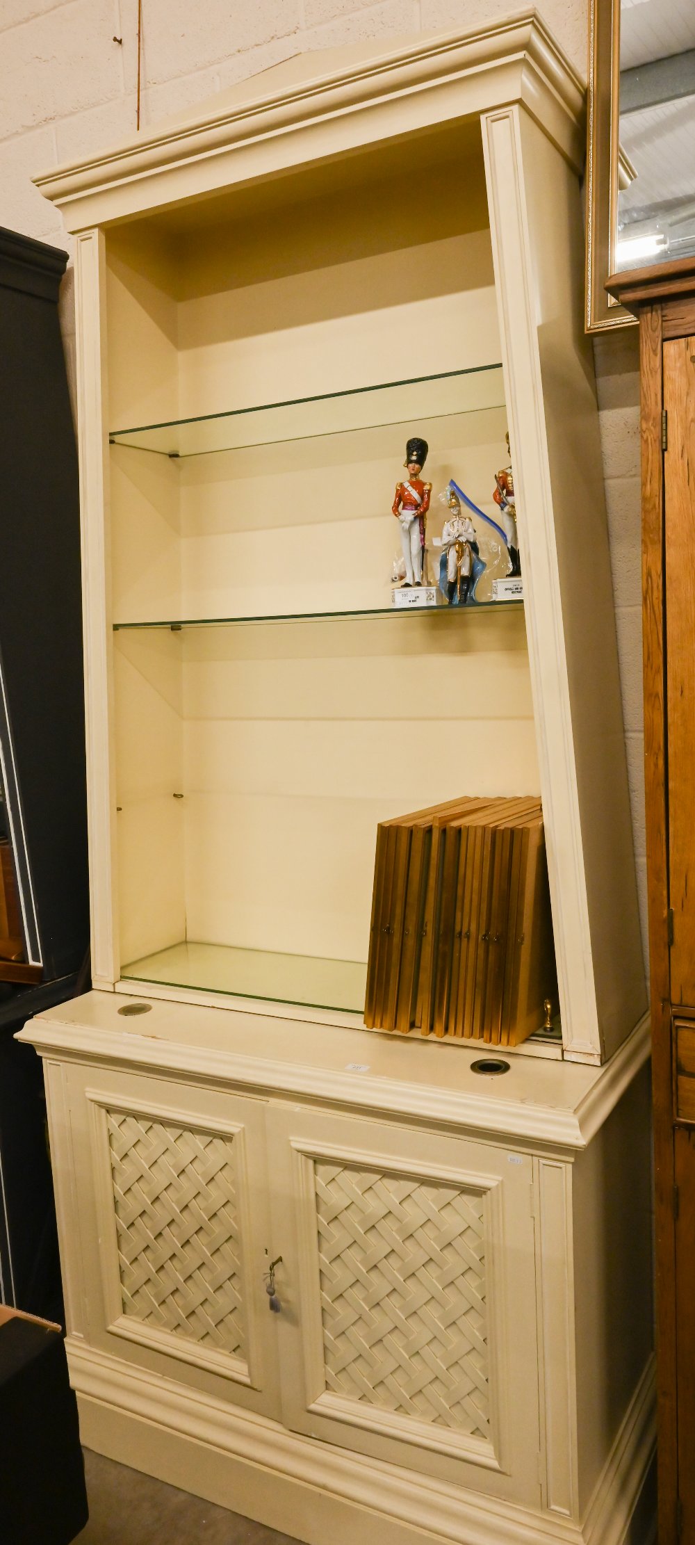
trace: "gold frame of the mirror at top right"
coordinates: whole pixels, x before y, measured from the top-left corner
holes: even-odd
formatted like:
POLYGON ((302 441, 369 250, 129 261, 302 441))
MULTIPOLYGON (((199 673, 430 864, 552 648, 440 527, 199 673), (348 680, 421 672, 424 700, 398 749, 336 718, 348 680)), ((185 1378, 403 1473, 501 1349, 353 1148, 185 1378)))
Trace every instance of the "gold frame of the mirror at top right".
POLYGON ((635 326, 605 290, 615 273, 618 188, 632 178, 618 144, 621 0, 590 0, 587 111, 587 332, 635 326))

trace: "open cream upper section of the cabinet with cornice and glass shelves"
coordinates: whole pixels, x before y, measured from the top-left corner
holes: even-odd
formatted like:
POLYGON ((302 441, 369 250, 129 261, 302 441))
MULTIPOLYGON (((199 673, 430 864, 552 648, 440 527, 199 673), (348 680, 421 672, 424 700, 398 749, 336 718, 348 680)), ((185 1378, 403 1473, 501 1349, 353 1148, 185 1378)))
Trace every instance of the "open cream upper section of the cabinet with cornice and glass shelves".
POLYGON ((639 1018, 579 125, 530 14, 40 179, 79 233, 97 986, 360 1015, 377 822, 541 794, 565 1054, 639 1018), (406 439, 429 545, 449 477, 494 514, 507 428, 524 606, 491 559, 476 606, 391 609, 406 439))

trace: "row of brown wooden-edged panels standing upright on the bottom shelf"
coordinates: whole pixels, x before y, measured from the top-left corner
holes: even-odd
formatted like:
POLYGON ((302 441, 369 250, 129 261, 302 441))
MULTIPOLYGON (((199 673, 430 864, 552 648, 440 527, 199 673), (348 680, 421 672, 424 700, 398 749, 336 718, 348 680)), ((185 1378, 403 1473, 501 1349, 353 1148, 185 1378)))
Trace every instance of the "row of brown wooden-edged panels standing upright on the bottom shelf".
POLYGON ((539 799, 380 822, 364 1024, 517 1046, 556 992, 539 799))

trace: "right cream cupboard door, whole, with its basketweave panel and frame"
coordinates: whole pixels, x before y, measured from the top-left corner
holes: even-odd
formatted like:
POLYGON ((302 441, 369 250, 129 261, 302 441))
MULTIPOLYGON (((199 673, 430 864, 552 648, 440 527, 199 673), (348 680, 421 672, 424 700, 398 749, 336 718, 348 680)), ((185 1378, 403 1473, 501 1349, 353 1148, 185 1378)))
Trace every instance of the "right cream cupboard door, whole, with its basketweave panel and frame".
POLYGON ((283 1420, 539 1502, 531 1160, 269 1108, 283 1420))

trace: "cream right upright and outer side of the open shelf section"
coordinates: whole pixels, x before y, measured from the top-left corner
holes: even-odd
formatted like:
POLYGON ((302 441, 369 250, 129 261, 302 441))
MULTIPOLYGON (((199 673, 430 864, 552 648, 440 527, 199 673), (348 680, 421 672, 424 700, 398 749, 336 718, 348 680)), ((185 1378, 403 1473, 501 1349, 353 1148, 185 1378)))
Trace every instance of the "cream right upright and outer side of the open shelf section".
POLYGON ((483 117, 483 145, 564 1044, 598 1061, 646 986, 579 187, 520 107, 483 117))

